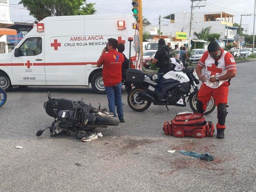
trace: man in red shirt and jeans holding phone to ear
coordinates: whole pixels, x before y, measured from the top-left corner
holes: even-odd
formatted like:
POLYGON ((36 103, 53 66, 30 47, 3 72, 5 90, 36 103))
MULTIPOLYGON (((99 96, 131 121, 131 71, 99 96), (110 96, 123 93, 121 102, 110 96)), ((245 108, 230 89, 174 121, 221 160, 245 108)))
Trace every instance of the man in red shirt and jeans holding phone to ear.
POLYGON ((102 77, 108 98, 109 111, 115 113, 115 103, 120 122, 123 119, 123 102, 122 102, 122 64, 125 61, 123 54, 117 52, 118 40, 109 38, 107 50, 103 49, 102 54, 97 61, 97 67, 103 65, 102 77), (107 51, 107 52, 106 52, 107 51))

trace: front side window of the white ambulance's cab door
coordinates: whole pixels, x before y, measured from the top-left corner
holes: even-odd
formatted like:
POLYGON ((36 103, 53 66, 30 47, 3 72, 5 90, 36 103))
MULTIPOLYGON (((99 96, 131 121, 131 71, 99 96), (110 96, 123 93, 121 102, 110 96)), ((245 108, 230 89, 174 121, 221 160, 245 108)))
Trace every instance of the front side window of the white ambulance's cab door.
POLYGON ((32 37, 26 39, 19 48, 20 56, 35 56, 42 52, 42 38, 32 37))

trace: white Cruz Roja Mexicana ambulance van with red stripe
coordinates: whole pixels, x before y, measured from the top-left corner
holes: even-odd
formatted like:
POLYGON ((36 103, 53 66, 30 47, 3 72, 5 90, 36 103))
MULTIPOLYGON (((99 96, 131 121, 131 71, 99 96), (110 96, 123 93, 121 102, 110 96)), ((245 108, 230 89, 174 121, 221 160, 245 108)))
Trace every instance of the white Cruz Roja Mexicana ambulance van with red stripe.
POLYGON ((133 15, 46 17, 7 54, 0 54, 0 86, 89 86, 105 93, 97 61, 107 39, 125 44, 131 67, 142 69, 139 26, 133 15))

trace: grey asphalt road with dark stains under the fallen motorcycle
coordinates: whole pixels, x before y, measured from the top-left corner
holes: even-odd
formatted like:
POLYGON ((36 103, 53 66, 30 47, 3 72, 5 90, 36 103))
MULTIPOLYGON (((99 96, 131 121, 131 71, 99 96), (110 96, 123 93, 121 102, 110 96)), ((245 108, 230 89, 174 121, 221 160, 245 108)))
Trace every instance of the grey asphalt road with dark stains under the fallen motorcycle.
MULTIPOLYGON (((216 139, 216 131, 202 139, 164 135, 163 122, 190 107, 168 112, 151 106, 138 113, 129 108, 125 91, 125 123, 100 129, 102 138, 88 143, 74 134, 51 138, 49 130, 37 137, 37 130, 52 122, 43 109, 47 90, 53 98, 83 97, 107 108, 106 95, 87 87, 14 88, 0 108, 0 191, 256 191, 256 62, 237 69, 223 140, 216 139), (215 160, 205 162, 179 150, 209 152, 215 160)), ((206 119, 216 125, 216 116, 215 109, 206 119)))

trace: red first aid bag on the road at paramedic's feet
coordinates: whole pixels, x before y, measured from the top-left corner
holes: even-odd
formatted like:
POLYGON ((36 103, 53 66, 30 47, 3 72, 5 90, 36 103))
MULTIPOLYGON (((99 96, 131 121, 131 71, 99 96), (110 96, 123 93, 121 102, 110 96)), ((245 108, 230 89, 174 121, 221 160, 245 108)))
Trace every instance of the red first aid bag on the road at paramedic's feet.
POLYGON ((175 137, 203 138, 213 136, 214 125, 199 113, 184 112, 178 113, 172 121, 165 121, 163 130, 166 135, 175 137))

